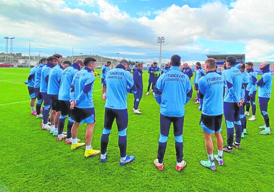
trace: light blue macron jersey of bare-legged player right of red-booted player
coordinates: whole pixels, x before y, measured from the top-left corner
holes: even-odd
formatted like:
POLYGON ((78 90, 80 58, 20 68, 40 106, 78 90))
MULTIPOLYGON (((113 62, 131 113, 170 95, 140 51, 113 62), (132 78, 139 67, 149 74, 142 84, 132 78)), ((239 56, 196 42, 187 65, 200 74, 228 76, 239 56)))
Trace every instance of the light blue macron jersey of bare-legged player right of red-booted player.
POLYGON ((211 116, 223 114, 223 86, 222 76, 215 71, 208 71, 199 79, 199 92, 203 97, 202 114, 211 116))

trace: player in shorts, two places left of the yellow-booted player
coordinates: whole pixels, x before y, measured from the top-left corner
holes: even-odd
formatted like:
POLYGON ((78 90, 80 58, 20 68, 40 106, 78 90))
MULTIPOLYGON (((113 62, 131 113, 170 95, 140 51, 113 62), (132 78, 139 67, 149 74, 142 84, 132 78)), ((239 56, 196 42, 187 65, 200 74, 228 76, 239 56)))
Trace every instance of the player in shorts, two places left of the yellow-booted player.
POLYGON ((61 75, 63 70, 70 65, 70 61, 64 61, 61 64, 57 64, 48 73, 47 94, 49 95, 52 103, 52 111, 50 114, 51 129, 49 133, 53 136, 58 136, 58 123, 61 111, 61 103, 58 99, 58 94, 60 89, 61 75))

